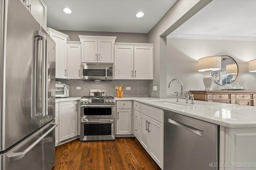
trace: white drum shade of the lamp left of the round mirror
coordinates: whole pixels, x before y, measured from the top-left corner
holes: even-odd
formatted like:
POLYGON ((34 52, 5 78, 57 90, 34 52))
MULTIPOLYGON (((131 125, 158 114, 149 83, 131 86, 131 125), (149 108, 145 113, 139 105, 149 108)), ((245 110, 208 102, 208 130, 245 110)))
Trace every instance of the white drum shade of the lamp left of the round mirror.
POLYGON ((221 57, 210 56, 198 60, 198 71, 216 71, 221 68, 221 57))

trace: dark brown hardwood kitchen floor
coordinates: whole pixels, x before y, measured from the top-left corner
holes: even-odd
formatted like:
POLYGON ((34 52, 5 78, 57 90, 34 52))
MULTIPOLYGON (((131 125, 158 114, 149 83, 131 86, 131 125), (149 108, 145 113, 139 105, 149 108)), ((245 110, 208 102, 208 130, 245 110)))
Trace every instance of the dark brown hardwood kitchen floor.
POLYGON ((56 147, 52 170, 160 170, 135 137, 115 141, 79 139, 56 147))

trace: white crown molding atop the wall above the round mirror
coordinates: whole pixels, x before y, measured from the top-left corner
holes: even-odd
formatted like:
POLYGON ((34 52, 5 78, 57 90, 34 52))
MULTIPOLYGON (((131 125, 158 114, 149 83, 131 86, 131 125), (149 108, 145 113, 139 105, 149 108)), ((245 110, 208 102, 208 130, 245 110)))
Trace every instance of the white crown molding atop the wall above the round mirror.
POLYGON ((256 37, 226 36, 226 35, 200 35, 200 34, 170 34, 167 36, 167 38, 211 39, 211 40, 230 40, 230 41, 256 41, 256 37))

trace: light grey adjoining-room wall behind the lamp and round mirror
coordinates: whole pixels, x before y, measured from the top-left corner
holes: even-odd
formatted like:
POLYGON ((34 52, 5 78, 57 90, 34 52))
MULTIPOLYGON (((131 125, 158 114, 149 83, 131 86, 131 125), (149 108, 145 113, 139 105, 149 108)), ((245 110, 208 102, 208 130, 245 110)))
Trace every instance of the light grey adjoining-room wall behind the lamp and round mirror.
MULTIPOLYGON (((214 55, 228 55, 238 63, 239 73, 232 83, 238 82, 243 88, 256 89, 256 74, 248 72, 248 61, 255 59, 256 42, 228 41, 205 39, 167 39, 167 80, 178 78, 184 84, 184 91, 204 90, 204 72, 198 72, 197 61, 200 58, 214 55)), ((224 89, 225 86, 213 83, 213 90, 224 89)), ((180 84, 174 82, 167 89, 167 97, 175 97, 174 92, 180 91, 180 84)))

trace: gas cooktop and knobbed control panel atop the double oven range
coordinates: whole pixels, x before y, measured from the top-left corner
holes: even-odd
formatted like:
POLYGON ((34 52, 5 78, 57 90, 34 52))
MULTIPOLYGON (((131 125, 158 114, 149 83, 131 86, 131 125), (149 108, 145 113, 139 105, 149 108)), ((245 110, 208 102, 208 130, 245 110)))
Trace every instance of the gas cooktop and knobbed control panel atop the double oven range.
POLYGON ((113 96, 83 96, 80 104, 115 104, 116 100, 113 96))

